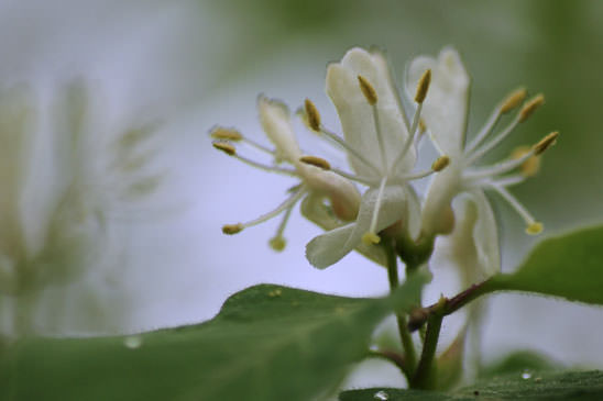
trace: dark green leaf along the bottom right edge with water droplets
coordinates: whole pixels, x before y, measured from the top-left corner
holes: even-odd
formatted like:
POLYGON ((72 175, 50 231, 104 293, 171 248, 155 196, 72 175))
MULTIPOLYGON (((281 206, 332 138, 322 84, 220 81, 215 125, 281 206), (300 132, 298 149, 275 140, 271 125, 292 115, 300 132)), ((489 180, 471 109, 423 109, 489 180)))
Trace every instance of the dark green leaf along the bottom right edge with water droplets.
POLYGON ((568 400, 603 399, 603 371, 542 372, 501 376, 452 393, 402 389, 363 389, 343 391, 340 401, 475 401, 475 400, 568 400))

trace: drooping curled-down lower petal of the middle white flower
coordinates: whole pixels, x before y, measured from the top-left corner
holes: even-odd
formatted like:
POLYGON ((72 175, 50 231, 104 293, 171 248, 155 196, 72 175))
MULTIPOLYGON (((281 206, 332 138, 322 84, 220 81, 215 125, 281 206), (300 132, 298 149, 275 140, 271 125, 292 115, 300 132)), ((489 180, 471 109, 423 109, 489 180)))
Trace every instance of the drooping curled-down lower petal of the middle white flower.
MULTIPOLYGON (((364 193, 355 223, 329 231, 308 243, 306 257, 313 266, 319 269, 329 267, 360 244, 371 225, 377 192, 376 189, 369 189, 364 193)), ((403 219, 406 210, 405 196, 406 191, 401 186, 385 187, 376 224, 377 232, 403 219)))

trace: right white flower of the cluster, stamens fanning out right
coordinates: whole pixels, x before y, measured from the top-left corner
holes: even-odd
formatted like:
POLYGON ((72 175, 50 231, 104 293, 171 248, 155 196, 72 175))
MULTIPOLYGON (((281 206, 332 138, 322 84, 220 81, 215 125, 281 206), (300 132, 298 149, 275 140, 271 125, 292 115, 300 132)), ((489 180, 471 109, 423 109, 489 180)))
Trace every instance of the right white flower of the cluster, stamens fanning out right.
POLYGON ((450 165, 430 182, 421 212, 421 235, 449 233, 454 224, 451 201, 459 193, 468 193, 468 201, 474 203, 476 213, 472 235, 468 240, 475 244, 480 265, 490 276, 500 270, 500 250, 496 221, 484 190, 498 193, 525 220, 526 232, 538 234, 542 230, 541 223, 508 192, 507 187, 523 182, 534 174, 537 166, 535 158, 555 143, 558 133, 545 136, 519 157, 476 167, 475 164, 487 152, 544 103, 544 97, 538 94, 524 103, 527 94, 525 89, 512 92, 494 109, 473 140, 465 144, 470 79, 459 54, 452 48, 445 48, 437 59, 427 56, 415 58, 407 70, 407 85, 415 85, 427 68, 432 71, 432 82, 429 97, 424 103, 423 119, 434 145, 450 158, 450 165), (485 142, 498 120, 517 108, 519 111, 511 123, 485 142), (513 172, 517 170, 519 172, 513 172))

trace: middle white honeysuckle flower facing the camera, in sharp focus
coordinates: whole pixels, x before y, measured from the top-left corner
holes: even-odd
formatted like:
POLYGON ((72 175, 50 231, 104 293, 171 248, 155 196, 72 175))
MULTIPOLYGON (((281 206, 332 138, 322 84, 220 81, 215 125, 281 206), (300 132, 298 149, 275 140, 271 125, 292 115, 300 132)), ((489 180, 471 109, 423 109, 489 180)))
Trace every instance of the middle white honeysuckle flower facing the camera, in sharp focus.
POLYGON ((315 124, 314 129, 347 152, 355 175, 333 171, 369 189, 353 223, 319 235, 307 245, 306 256, 315 267, 335 264, 361 243, 377 244, 377 233, 396 222, 407 235, 416 235, 419 203, 407 183, 443 169, 448 163, 442 156, 430 170, 412 172, 416 160, 414 136, 429 80, 429 69, 423 70, 415 86, 417 111, 409 123, 382 54, 352 48, 340 63, 329 65, 327 93, 337 109, 344 141, 324 126, 315 124))

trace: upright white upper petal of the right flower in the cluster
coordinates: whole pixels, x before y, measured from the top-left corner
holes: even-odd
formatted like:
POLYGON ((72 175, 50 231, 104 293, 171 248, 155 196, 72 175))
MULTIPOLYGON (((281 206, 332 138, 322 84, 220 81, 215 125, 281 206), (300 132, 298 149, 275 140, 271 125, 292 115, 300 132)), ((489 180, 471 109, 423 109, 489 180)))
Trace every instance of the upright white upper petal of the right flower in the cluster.
POLYGON ((431 69, 431 83, 421 116, 441 151, 451 157, 460 155, 467 129, 469 76, 453 48, 442 49, 437 60, 419 56, 406 71, 406 91, 412 99, 426 69, 431 69))

